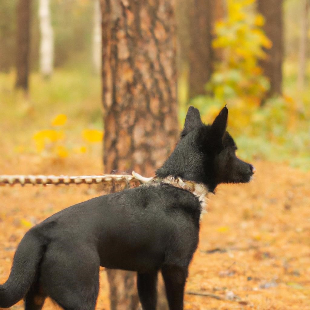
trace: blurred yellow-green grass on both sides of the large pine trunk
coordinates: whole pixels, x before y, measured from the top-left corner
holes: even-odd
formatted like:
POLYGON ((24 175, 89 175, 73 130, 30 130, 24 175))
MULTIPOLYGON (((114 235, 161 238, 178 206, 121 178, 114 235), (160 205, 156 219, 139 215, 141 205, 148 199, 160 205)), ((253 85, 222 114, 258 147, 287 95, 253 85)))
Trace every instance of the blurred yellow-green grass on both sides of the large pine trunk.
MULTIPOLYGON (((291 66, 292 68, 294 66, 291 66)), ((285 95, 290 100, 272 99, 263 110, 256 110, 251 120, 244 124, 242 114, 237 122, 232 122, 230 109, 228 130, 238 144, 240 157, 246 160, 260 158, 274 162, 286 162, 302 170, 310 170, 310 90, 305 90, 297 98, 295 87, 296 72, 285 69, 285 95), (290 104, 295 104, 294 123, 289 124, 290 104)), ((100 77, 91 75, 89 70, 57 69, 50 80, 38 73, 30 76, 29 95, 15 91, 15 72, 0 73, 0 129, 3 158, 19 156, 20 153, 35 154, 33 135, 41 130, 51 129, 51 120, 58 114, 68 117, 61 128, 65 133, 63 144, 70 150, 85 143, 81 132, 86 128, 102 130, 102 104, 100 77)), ((186 77, 179 82, 179 119, 183 123, 187 104, 186 77)), ((201 97, 194 101, 202 116, 210 114, 210 98, 201 97)), ((217 110, 217 109, 215 109, 217 110)), ((241 109, 244 111, 244 108, 241 109)), ((213 108, 214 111, 214 108, 213 108)), ((249 111, 248 111, 249 112, 249 111)), ((249 112, 247 114, 252 114, 249 112)), ((180 126, 181 128, 181 126, 180 126)), ((101 152, 101 145, 93 146, 101 152), (99 150, 100 149, 100 150, 99 150)), ((97 152, 97 153, 98 153, 97 152)), ((38 155, 38 154, 37 154, 38 155)))

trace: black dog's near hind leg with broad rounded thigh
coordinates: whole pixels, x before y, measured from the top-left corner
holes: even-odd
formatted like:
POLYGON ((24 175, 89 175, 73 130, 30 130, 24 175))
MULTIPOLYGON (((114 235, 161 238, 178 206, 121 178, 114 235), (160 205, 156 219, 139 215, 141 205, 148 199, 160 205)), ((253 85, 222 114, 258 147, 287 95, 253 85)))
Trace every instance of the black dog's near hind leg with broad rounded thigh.
POLYGON ((65 310, 94 310, 99 264, 97 250, 92 245, 78 241, 50 244, 41 263, 43 290, 65 310))

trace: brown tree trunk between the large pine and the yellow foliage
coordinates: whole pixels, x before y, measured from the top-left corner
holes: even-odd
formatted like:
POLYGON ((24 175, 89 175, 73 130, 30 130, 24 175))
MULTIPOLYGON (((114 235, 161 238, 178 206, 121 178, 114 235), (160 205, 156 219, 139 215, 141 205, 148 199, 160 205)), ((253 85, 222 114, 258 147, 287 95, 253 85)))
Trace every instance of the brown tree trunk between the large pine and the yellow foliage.
POLYGON ((224 17, 222 0, 192 0, 189 12, 189 32, 191 38, 189 60, 189 98, 205 93, 215 60, 219 52, 212 49, 215 21, 224 17))

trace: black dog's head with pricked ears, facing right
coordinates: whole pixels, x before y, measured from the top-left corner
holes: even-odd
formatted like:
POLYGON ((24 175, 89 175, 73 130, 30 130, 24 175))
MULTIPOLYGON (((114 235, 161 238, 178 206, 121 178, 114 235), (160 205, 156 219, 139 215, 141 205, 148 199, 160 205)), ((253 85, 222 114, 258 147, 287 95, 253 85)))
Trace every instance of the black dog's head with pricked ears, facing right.
POLYGON ((247 183, 254 167, 236 156, 237 146, 226 131, 224 107, 212 125, 201 122, 198 109, 189 107, 181 139, 157 176, 179 176, 204 183, 210 191, 220 183, 247 183))

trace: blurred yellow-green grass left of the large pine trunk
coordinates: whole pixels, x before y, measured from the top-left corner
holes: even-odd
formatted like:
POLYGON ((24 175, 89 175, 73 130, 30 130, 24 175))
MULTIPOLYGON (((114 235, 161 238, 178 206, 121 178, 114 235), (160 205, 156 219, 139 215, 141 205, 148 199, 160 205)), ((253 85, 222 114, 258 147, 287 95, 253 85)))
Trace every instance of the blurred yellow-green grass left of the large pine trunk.
POLYGON ((68 117, 63 129, 70 140, 80 138, 85 128, 102 130, 99 76, 58 69, 46 80, 32 73, 27 96, 15 91, 14 82, 15 72, 0 73, 0 128, 6 147, 24 145, 30 151, 33 134, 51 128, 51 120, 58 114, 68 117))

